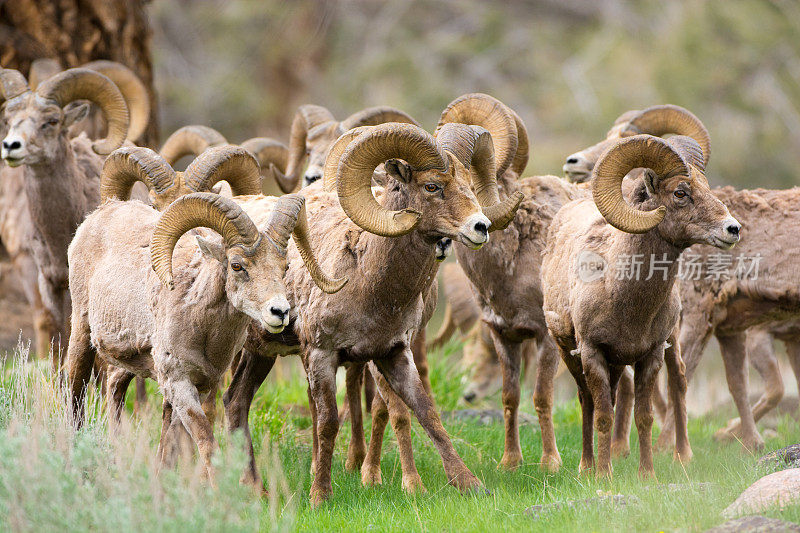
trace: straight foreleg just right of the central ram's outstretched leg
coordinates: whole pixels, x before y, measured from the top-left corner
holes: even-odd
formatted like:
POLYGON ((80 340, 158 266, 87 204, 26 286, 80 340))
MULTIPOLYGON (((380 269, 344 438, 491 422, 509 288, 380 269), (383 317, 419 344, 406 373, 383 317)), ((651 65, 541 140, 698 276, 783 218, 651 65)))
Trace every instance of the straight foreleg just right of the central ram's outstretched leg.
POLYGON ((519 398, 520 369, 522 365, 522 343, 512 342, 491 328, 495 350, 503 372, 503 422, 505 443, 503 458, 498 468, 514 470, 522 464, 522 448, 519 444, 519 398))

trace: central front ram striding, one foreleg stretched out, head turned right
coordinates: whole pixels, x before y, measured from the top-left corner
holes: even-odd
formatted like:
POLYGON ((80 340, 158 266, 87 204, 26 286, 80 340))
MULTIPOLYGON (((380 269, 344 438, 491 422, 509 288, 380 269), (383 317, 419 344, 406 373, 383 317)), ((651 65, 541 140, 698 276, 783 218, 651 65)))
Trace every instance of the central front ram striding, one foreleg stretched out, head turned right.
MULTIPOLYGON (((410 343, 424 311, 423 296, 436 273, 436 241, 447 237, 479 248, 488 240, 490 225, 502 229, 513 218, 521 195, 500 201, 488 132, 455 124, 443 128, 436 139, 410 124, 351 130, 330 150, 325 174, 336 194, 319 186, 304 188, 301 194, 311 224, 320 229, 314 239, 324 250, 324 264, 351 281, 337 295, 320 300, 308 276, 290 258, 287 288, 297 313, 295 338, 251 328, 224 398, 229 420, 236 420, 232 429, 247 433, 249 402, 271 367, 269 357, 296 353, 296 345, 301 346, 317 427, 311 502, 318 505, 331 494, 339 426, 336 368, 369 362, 380 375, 380 389, 393 391, 414 411, 439 451, 450 483, 462 491, 475 489, 481 483, 447 437, 415 370, 410 343), (378 202, 371 184, 381 163, 387 186, 378 202), (329 180, 332 171, 335 176, 329 180), (479 200, 470 189, 471 180, 479 200)), ((255 216, 257 201, 241 205, 255 216)))

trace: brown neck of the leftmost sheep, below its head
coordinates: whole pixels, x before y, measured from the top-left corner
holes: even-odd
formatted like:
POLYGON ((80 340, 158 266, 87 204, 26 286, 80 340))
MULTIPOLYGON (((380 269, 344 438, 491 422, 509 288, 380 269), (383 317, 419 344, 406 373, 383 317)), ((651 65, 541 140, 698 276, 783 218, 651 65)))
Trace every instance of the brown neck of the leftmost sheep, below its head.
POLYGON ((37 236, 63 265, 67 247, 87 211, 86 179, 80 175, 68 141, 58 155, 42 163, 25 165, 24 183, 28 209, 37 236))

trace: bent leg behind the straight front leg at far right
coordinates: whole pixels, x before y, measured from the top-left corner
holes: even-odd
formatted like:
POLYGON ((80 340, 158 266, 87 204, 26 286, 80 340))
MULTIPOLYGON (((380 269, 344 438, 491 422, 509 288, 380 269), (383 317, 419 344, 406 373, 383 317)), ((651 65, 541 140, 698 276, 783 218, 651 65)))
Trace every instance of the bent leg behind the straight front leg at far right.
MULTIPOLYGON (((755 367, 764 381, 764 393, 753 405, 753 420, 758 422, 769 411, 777 407, 783 398, 783 378, 778 366, 778 359, 772 349, 772 335, 762 329, 747 330, 745 346, 750 364, 755 367)), ((733 418, 728 421, 725 431, 731 435, 742 432, 742 421, 733 418)))

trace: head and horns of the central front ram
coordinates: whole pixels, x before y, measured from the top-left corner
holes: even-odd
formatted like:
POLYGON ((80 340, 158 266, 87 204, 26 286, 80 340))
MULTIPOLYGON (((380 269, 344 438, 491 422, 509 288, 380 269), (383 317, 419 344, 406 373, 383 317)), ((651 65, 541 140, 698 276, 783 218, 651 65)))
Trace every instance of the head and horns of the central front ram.
MULTIPOLYGON (((398 123, 351 130, 330 150, 326 185, 336 187, 342 209, 366 231, 386 237, 417 231, 431 244, 450 238, 480 248, 493 222, 479 200, 497 198, 491 138, 482 128, 455 124, 440 134, 435 139, 418 126, 398 123), (394 198, 385 200, 386 206, 371 188, 381 163, 387 197, 394 198), (478 197, 473 179, 481 184, 478 197), (393 205, 400 198, 405 205, 393 205)), ((516 212, 515 201, 495 202, 487 209, 502 223, 516 212)))

